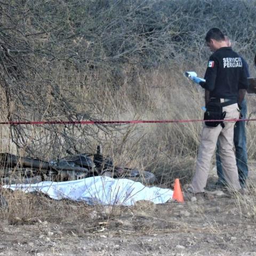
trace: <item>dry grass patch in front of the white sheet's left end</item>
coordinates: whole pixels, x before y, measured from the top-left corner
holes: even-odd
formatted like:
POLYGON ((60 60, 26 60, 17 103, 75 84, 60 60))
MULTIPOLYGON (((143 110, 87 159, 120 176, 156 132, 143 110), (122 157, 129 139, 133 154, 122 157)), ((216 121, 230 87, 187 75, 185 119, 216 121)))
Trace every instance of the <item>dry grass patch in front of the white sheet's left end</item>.
POLYGON ((2 209, 1 219, 11 225, 36 222, 70 222, 83 218, 92 211, 91 207, 68 200, 54 201, 42 194, 26 194, 21 191, 2 190, 8 209, 2 209))

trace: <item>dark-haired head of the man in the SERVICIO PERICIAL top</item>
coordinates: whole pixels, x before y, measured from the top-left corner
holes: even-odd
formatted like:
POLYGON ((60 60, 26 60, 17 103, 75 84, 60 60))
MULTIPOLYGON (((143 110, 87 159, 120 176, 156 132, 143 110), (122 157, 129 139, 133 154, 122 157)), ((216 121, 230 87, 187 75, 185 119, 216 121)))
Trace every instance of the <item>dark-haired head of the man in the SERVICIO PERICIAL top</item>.
POLYGON ((205 36, 205 42, 212 52, 227 46, 225 36, 219 28, 211 28, 205 36))

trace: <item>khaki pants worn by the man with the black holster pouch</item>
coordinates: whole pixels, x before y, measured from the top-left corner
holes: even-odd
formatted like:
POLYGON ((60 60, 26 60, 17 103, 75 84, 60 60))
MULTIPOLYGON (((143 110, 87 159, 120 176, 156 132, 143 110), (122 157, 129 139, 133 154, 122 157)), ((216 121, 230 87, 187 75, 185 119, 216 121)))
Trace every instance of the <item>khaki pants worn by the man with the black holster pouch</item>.
MULTIPOLYGON (((225 119, 239 118, 237 103, 223 107, 223 111, 226 111, 225 119)), ((196 161, 196 171, 191 184, 194 193, 204 192, 211 165, 212 155, 214 153, 218 138, 220 144, 220 157, 225 180, 227 181, 230 189, 241 189, 238 179, 236 157, 233 150, 235 122, 224 122, 224 124, 224 128, 222 128, 220 124, 217 127, 209 127, 204 124, 201 134, 201 145, 199 147, 196 161)))

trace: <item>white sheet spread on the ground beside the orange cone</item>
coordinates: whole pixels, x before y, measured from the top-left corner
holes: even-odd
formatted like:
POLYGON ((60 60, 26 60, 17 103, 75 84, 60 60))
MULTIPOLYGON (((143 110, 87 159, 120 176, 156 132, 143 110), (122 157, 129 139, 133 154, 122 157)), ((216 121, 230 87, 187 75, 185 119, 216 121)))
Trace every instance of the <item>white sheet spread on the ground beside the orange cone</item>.
POLYGON ((113 179, 104 176, 81 180, 36 184, 5 185, 4 188, 22 190, 25 193, 42 192, 53 199, 71 199, 95 205, 134 205, 136 201, 148 200, 155 204, 166 203, 173 191, 158 187, 146 187, 129 179, 113 179))

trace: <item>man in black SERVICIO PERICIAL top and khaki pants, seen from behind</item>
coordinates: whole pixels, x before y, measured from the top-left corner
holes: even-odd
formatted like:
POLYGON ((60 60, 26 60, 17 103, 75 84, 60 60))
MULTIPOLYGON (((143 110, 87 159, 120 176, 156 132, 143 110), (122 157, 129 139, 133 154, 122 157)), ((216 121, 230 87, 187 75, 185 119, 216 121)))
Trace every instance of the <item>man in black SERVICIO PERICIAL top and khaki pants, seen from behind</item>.
POLYGON ((222 117, 224 120, 223 122, 205 122, 191 190, 194 193, 204 192, 211 158, 218 139, 225 180, 230 189, 239 190, 241 186, 233 151, 235 122, 225 122, 225 119, 239 118, 238 106, 242 103, 248 87, 247 77, 244 73, 242 59, 231 47, 226 46, 225 37, 220 29, 210 29, 205 41, 213 52, 205 73, 206 82, 201 83, 205 89, 207 109, 205 119, 222 117))

